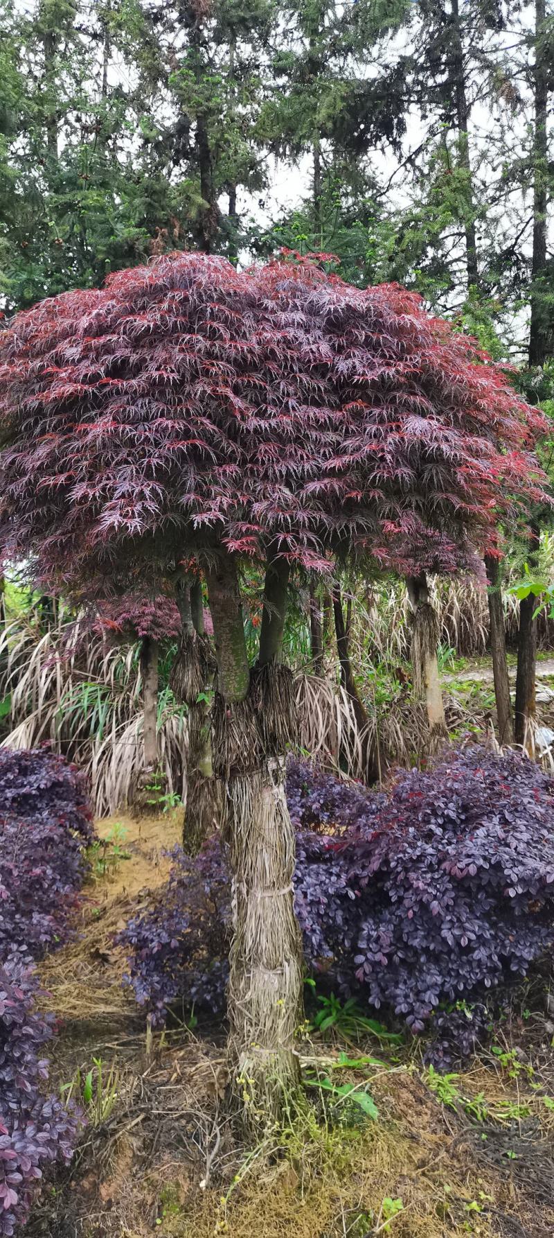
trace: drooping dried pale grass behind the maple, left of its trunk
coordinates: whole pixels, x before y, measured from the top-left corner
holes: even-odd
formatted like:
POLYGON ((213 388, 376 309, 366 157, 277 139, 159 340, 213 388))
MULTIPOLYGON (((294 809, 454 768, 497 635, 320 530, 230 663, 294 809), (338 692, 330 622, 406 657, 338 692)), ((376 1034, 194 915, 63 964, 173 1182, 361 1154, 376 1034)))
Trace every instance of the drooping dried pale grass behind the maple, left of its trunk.
MULTIPOLYGON (((40 634, 31 613, 0 633, 0 697, 10 698, 6 748, 48 740, 90 779, 93 807, 125 807, 143 768, 137 647, 122 651, 59 610, 40 634)), ((172 702, 158 719, 160 761, 169 792, 183 795, 187 719, 172 702)))

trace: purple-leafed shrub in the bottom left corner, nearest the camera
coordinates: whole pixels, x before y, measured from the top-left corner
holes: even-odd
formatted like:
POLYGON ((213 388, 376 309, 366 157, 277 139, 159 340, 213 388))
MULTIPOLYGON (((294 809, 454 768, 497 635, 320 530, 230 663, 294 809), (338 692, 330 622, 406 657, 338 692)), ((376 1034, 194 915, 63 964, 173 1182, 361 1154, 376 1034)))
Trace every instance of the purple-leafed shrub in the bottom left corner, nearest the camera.
POLYGON ((15 961, 0 966, 0 1234, 27 1218, 43 1167, 72 1156, 78 1115, 41 1093, 42 1046, 52 1031, 35 1010, 36 980, 15 961))

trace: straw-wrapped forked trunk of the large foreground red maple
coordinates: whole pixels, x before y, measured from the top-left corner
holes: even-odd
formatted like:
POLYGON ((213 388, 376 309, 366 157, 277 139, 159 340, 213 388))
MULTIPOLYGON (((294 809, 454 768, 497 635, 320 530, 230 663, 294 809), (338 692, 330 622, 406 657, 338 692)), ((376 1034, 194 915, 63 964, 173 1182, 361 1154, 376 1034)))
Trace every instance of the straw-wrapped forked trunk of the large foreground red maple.
MULTIPOLYGON (((267 581, 270 661, 249 672, 232 556, 207 568, 218 656, 214 769, 225 782, 225 838, 232 875, 234 938, 229 1021, 232 1087, 246 1123, 279 1117, 299 1080, 294 1031, 302 1011, 302 941, 294 916, 294 829, 284 794, 286 734, 294 723, 292 675, 277 664, 276 617, 283 574, 267 581), (272 639, 270 640, 270 635, 272 639)), ((281 620, 279 620, 281 621, 281 620)), ((262 620, 263 628, 263 620, 262 620)))

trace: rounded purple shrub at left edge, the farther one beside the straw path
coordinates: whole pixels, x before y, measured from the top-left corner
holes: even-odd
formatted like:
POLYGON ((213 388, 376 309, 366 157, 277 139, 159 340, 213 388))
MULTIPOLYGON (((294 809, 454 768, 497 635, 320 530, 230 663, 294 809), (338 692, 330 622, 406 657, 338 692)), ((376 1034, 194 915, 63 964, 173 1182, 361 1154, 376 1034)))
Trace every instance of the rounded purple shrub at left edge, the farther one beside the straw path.
POLYGON ((47 749, 0 749, 0 962, 67 937, 93 825, 78 770, 47 749))

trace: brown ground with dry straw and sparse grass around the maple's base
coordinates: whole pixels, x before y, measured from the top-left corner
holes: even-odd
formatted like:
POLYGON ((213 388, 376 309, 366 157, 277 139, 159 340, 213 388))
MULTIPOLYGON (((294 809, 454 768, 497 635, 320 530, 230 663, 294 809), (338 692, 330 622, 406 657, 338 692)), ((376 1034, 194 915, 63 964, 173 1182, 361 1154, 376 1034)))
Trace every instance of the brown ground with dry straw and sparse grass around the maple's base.
MULTIPOLYGON (((323 1073, 344 1049, 382 1061, 361 1076, 378 1119, 352 1130, 340 1107, 307 1103, 246 1151, 225 1103, 224 1029, 176 1025, 150 1042, 121 987, 114 933, 163 884, 179 817, 117 822, 130 858, 87 886, 78 938, 41 968, 58 1016, 52 1086, 101 1058, 104 1075, 116 1072, 116 1099, 85 1128, 70 1169, 45 1186, 28 1238, 554 1233, 554 1099, 552 1109, 544 1101, 554 1098, 554 1062, 540 987, 502 1028, 508 1065, 484 1052, 451 1081, 448 1103, 429 1088, 418 1044, 391 1051, 314 1036, 303 1051, 323 1073), (402 1201, 388 1229, 387 1200, 402 1201)), ((115 823, 99 822, 100 837, 115 823)), ((360 1083, 356 1071, 336 1077, 360 1083)))

